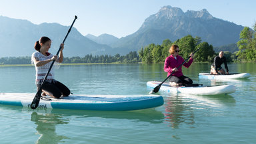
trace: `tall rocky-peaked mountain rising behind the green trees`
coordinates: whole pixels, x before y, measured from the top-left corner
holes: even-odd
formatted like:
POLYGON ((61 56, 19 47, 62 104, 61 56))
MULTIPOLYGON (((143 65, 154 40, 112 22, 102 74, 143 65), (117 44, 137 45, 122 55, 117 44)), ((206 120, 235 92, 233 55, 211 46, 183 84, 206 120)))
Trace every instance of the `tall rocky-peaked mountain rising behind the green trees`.
POLYGON ((150 43, 161 44, 164 39, 176 41, 186 35, 201 37, 214 47, 239 41, 243 26, 213 17, 206 9, 183 12, 180 8, 165 6, 145 19, 135 33, 121 38, 111 47, 138 50, 150 43))

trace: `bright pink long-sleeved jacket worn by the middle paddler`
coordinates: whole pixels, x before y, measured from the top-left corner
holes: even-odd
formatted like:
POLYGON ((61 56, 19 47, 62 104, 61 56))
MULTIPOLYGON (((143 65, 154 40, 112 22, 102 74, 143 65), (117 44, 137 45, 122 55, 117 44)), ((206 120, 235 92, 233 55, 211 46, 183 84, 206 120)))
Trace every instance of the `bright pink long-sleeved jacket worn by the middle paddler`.
MULTIPOLYGON (((181 65, 183 62, 184 62, 184 59, 179 55, 177 55, 177 60, 173 57, 173 55, 170 55, 169 57, 167 57, 165 59, 165 66, 163 67, 165 72, 168 73, 167 76, 171 75, 171 72, 173 72, 172 69, 174 69, 175 67, 178 68, 179 65, 181 65)), ((190 58, 187 63, 183 64, 183 66, 188 68, 192 64, 192 62, 193 62, 193 59, 190 58)), ((173 75, 176 77, 181 77, 183 75, 181 68, 182 67, 179 67, 178 69, 179 71, 173 73, 173 75)))

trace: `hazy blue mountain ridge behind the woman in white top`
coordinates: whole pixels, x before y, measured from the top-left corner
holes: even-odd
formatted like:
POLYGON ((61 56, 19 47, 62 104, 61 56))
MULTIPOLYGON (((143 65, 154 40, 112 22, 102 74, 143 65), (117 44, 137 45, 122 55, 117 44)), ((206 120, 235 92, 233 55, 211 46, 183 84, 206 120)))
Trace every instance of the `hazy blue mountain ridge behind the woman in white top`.
MULTIPOLYGON (((68 30, 69 26, 58 23, 35 25, 27 20, 0 16, 0 57, 30 56, 35 51, 35 42, 42 36, 47 36, 53 41, 49 51, 57 53, 68 30)), ((73 27, 65 41, 64 49, 64 55, 67 57, 84 57, 91 53, 93 55, 111 53, 112 48, 91 41, 73 27)))

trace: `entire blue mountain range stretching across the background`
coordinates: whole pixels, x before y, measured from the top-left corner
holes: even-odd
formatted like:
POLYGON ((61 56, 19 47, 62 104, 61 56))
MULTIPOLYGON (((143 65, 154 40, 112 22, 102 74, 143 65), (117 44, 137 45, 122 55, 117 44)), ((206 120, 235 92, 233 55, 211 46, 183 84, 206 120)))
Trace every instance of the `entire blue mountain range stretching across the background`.
MULTIPOLYGON (((35 25, 27 20, 0 16, 0 57, 29 56, 35 51, 35 41, 42 36, 52 39, 51 51, 57 52, 68 29, 69 26, 58 23, 35 25)), ((145 19, 135 33, 121 39, 109 34, 84 36, 73 27, 65 41, 64 55, 125 55, 151 43, 161 45, 165 39, 176 41, 186 35, 201 37, 202 41, 220 47, 237 43, 242 30, 243 26, 215 18, 206 9, 184 13, 178 7, 165 6, 145 19)))

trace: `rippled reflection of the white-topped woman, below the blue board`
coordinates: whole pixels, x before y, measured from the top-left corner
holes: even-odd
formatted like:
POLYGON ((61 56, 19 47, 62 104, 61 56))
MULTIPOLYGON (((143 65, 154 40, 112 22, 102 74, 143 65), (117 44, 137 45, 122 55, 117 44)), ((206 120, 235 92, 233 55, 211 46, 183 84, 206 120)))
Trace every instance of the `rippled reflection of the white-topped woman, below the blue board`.
POLYGON ((56 125, 68 124, 67 119, 53 113, 31 113, 31 121, 37 125, 37 133, 40 135, 37 143, 60 143, 63 139, 69 139, 63 135, 57 135, 56 125))

